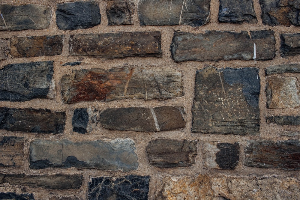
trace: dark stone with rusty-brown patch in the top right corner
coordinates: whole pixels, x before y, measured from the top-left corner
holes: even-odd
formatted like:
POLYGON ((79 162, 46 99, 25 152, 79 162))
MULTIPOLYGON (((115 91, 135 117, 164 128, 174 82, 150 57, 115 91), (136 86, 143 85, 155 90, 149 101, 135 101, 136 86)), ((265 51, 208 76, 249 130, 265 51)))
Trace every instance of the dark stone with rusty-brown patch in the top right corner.
POLYGON ((299 0, 259 0, 262 23, 269 26, 300 25, 299 0))

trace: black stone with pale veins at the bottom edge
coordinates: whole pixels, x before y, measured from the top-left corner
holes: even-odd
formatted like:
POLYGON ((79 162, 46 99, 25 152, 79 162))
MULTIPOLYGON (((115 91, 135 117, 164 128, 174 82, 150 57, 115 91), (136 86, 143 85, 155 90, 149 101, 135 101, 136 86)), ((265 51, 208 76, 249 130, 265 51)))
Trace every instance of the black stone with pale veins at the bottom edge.
POLYGON ((91 178, 88 182, 88 199, 147 200, 150 176, 127 175, 91 178))

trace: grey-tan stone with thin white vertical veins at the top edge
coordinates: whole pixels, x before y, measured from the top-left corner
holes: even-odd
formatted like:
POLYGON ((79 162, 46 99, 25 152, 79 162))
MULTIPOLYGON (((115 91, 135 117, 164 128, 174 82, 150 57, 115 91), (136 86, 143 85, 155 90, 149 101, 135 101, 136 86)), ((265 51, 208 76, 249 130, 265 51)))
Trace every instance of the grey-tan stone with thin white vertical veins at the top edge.
POLYGON ((138 4, 140 25, 202 26, 209 21, 210 0, 142 0, 138 4), (184 6, 183 6, 184 5, 184 6))

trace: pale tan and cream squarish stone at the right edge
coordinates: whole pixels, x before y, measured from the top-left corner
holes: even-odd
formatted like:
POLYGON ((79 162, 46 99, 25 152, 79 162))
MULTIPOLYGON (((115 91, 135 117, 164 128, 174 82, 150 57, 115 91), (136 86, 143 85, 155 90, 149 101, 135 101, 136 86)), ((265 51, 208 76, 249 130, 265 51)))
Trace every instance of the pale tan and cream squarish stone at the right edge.
POLYGON ((295 77, 266 78, 267 108, 296 108, 300 106, 298 81, 295 77))

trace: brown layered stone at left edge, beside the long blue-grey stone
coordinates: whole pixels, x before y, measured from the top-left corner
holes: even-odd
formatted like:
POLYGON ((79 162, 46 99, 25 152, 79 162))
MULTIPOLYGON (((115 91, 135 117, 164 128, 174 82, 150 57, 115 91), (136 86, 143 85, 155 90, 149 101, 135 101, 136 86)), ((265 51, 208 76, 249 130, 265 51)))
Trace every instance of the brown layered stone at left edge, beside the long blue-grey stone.
POLYGON ((21 167, 24 158, 24 138, 0 137, 0 166, 21 167))

